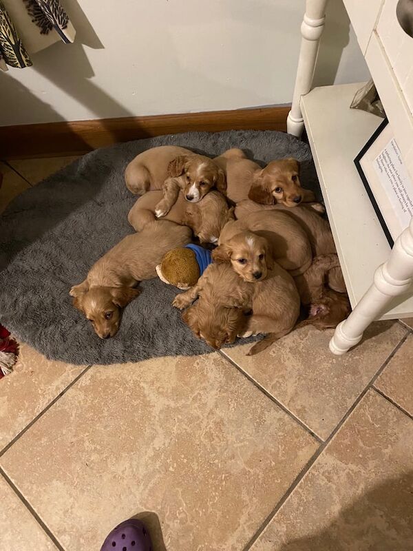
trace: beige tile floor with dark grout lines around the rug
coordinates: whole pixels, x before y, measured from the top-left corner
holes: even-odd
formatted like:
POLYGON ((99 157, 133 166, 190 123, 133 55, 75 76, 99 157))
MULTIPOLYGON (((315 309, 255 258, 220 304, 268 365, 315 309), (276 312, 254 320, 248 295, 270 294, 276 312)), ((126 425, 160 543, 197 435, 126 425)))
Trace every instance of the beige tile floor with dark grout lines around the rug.
MULTIPOLYGON (((72 160, 1 163, 0 211, 72 160)), ((413 320, 343 357, 331 334, 105 367, 23 344, 0 380, 0 549, 98 551, 152 512, 155 551, 413 550, 413 320)))

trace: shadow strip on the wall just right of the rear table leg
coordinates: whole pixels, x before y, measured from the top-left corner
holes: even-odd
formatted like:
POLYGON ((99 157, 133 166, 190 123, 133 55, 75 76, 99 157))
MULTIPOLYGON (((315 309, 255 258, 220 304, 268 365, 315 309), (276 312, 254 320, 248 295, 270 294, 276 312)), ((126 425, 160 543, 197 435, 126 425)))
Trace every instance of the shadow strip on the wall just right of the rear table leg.
POLYGON ((335 82, 343 50, 350 42, 350 19, 342 0, 330 0, 326 10, 326 26, 321 35, 315 65, 313 87, 335 82))

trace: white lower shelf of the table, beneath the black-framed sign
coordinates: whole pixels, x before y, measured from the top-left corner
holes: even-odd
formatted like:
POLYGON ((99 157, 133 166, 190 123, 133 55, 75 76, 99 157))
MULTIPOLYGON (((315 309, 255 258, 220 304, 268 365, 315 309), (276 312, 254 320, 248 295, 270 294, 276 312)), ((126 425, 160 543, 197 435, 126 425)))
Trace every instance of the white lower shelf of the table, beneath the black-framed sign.
MULTIPOLYGON (((382 119, 350 110, 363 83, 319 87, 301 97, 321 191, 352 308, 370 287, 390 247, 354 165, 382 119)), ((396 297, 381 320, 413 316, 412 291, 396 297), (410 294, 410 297, 409 297, 410 294)))

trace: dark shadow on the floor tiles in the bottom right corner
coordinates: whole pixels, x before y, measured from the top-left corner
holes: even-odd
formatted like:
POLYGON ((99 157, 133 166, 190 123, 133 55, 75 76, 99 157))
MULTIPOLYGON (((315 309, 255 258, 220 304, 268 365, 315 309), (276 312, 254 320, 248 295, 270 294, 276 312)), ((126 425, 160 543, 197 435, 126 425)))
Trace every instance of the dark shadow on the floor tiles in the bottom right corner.
MULTIPOLYGON (((332 496, 332 507, 336 503, 332 496)), ((311 505, 310 505, 311 508, 311 505)), ((413 471, 389 479, 342 510, 330 526, 311 536, 279 544, 264 537, 262 549, 277 551, 408 551, 413 550, 413 471)), ((314 512, 314 511, 313 511, 314 512)), ((312 517, 312 512, 304 515, 312 517)), ((322 519, 321 519, 322 520, 322 519)), ((273 523, 276 523, 276 519, 273 523)), ((311 523, 308 527, 310 528, 311 523)), ((293 526, 291 529, 294 529, 293 526)))

